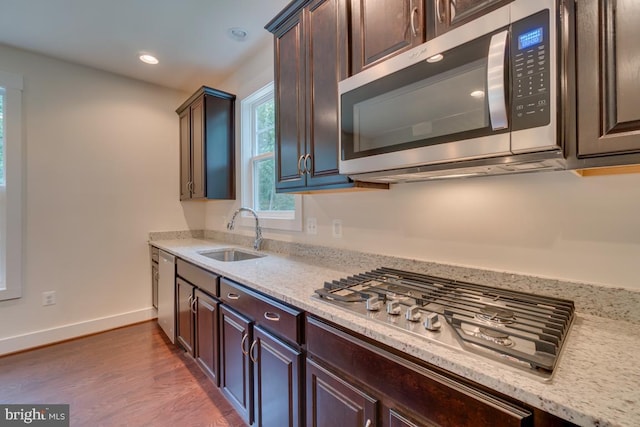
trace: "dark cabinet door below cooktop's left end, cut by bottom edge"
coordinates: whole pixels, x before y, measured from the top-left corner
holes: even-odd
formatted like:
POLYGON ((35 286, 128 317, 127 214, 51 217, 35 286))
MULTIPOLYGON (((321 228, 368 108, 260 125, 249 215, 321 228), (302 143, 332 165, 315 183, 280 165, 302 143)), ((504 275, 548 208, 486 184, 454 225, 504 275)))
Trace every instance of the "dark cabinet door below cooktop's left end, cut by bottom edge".
POLYGON ((307 359, 308 427, 375 427, 377 401, 307 359))

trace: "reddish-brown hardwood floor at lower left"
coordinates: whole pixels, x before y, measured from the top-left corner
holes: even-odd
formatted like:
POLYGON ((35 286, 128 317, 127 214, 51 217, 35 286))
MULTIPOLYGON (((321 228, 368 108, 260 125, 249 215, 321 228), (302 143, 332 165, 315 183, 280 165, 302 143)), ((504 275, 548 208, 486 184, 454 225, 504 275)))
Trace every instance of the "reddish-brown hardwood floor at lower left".
POLYGON ((0 402, 68 403, 72 426, 245 426, 156 322, 0 357, 0 402))

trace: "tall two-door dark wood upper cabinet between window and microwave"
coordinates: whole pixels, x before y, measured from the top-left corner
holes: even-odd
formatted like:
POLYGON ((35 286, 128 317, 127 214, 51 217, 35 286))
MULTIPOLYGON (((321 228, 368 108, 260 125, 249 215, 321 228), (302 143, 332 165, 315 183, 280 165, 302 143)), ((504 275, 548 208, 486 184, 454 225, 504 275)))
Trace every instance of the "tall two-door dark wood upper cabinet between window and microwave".
POLYGON ((352 188, 338 171, 338 82, 349 75, 347 0, 294 1, 274 34, 276 190, 352 188))

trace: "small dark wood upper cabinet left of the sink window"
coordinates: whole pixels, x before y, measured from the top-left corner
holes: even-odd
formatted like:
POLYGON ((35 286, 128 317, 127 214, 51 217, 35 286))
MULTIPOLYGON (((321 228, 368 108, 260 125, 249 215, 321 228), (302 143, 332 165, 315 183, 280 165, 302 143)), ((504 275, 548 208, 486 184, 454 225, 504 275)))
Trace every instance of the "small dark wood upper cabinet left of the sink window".
POLYGON ((180 200, 235 199, 235 99, 201 87, 180 117, 180 200))

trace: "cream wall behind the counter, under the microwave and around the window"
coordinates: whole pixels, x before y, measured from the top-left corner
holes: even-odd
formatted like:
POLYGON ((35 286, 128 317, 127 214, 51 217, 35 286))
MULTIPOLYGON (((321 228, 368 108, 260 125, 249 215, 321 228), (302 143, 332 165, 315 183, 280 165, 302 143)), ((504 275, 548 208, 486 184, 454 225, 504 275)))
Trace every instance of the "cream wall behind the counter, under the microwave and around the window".
MULTIPOLYGON (((273 79, 270 50, 224 82, 227 90, 246 96, 273 79)), ((547 172, 303 198, 318 234, 265 237, 640 289, 640 175, 547 172), (333 219, 343 222, 341 239, 332 237, 333 219)), ((236 206, 208 202, 206 227, 223 230, 236 206)))

